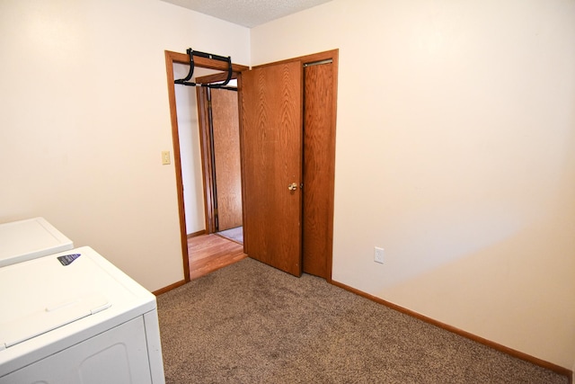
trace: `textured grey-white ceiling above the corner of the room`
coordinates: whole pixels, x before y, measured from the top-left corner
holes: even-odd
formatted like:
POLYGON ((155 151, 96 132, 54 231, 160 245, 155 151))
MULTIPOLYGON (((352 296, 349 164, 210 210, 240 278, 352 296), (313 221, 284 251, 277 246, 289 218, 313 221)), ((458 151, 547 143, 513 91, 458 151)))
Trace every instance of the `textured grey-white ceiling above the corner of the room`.
POLYGON ((331 0, 163 0, 252 28, 331 0))

